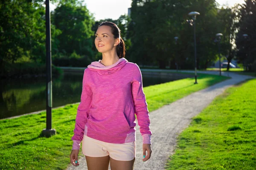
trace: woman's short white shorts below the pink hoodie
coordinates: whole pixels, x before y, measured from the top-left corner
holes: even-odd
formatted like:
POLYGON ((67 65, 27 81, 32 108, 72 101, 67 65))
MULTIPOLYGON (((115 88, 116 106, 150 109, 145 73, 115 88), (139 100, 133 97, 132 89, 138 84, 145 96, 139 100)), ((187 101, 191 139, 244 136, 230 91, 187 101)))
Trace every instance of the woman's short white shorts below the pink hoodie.
POLYGON ((110 156, 117 161, 131 161, 136 156, 136 142, 115 144, 102 142, 84 135, 82 151, 85 156, 110 156))

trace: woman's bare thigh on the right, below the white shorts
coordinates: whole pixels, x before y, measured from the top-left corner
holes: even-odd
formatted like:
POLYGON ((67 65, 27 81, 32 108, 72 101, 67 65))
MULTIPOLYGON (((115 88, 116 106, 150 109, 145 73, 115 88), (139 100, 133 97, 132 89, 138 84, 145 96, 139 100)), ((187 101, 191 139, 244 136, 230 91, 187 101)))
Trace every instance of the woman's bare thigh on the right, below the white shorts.
POLYGON ((117 161, 110 158, 111 170, 133 170, 135 158, 131 161, 117 161))

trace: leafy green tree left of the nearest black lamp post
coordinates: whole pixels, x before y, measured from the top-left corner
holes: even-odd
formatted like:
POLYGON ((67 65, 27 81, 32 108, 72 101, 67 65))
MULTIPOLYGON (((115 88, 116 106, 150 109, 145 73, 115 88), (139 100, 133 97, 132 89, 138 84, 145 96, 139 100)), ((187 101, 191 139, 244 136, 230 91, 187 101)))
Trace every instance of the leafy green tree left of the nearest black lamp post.
MULTIPOLYGON (((0 3, 0 64, 13 63, 24 55, 35 59, 36 49, 42 47, 44 8, 32 0, 2 0, 0 3)), ((41 54, 44 54, 41 49, 41 54)), ((1 67, 2 68, 2 67, 1 67)))

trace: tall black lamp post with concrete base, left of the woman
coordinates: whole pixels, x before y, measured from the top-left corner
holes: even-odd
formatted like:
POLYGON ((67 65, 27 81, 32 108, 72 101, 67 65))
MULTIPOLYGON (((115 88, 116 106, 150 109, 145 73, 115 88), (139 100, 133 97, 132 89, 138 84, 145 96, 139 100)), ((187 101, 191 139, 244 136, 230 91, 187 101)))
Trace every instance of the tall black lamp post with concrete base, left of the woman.
POLYGON ((51 56, 51 20, 49 0, 45 1, 45 20, 46 20, 46 129, 43 129, 43 136, 52 136, 56 134, 56 130, 52 129, 52 56, 51 56))

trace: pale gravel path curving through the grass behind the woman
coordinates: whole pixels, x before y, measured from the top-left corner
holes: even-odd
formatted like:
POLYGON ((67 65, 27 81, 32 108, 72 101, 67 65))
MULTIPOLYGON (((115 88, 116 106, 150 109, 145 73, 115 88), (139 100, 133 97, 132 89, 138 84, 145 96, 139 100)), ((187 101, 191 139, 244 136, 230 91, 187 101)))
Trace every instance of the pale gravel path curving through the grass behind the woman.
MULTIPOLYGON (((182 72, 193 73, 193 71, 182 72)), ((219 74, 218 71, 198 71, 198 73, 219 74)), ((232 77, 232 79, 190 94, 150 113, 150 127, 153 133, 151 138, 152 155, 151 159, 146 162, 142 161, 142 138, 137 126, 137 155, 134 170, 164 170, 166 161, 174 152, 177 136, 189 125, 191 118, 200 113, 216 96, 222 94, 225 89, 245 79, 255 78, 227 72, 222 72, 222 75, 232 77)), ((200 83, 200 80, 198 80, 198 83, 200 83)), ((79 163, 79 167, 73 167, 70 164, 67 170, 87 170, 84 156, 79 159, 79 163)))

